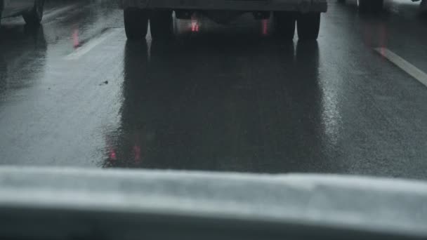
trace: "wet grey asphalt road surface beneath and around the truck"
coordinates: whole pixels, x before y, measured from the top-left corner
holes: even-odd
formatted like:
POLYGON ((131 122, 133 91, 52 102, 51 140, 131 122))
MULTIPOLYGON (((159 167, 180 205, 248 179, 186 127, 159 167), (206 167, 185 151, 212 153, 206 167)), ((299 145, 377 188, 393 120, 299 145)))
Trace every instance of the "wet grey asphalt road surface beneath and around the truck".
POLYGON ((427 18, 329 1, 317 43, 269 21, 176 20, 126 42, 115 1, 46 6, 0 29, 0 164, 350 173, 427 179, 427 18), (112 2, 112 3, 111 3, 112 2))

